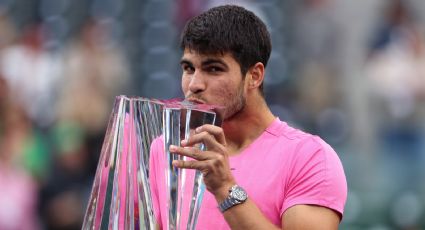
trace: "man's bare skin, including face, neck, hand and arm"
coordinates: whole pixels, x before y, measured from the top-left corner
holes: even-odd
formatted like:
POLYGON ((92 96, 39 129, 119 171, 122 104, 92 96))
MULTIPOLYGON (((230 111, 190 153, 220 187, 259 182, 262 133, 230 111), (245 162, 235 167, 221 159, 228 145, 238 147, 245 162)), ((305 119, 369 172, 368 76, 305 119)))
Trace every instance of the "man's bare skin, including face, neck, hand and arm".
MULTIPOLYGON (((184 50, 181 59, 182 89, 185 97, 195 103, 221 106, 218 116, 221 127, 198 127, 181 147, 171 146, 172 154, 195 160, 174 161, 178 168, 200 170, 204 183, 217 203, 237 184, 229 167, 229 157, 239 154, 275 119, 260 92, 264 80, 264 65, 260 62, 242 75, 240 65, 230 53, 200 54, 184 50), (192 146, 203 143, 207 151, 192 146)), ((248 194, 249 196, 249 194, 248 194)), ((332 210, 310 205, 296 205, 282 215, 282 225, 273 225, 248 198, 243 204, 223 213, 232 229, 337 229, 339 216, 332 210)))

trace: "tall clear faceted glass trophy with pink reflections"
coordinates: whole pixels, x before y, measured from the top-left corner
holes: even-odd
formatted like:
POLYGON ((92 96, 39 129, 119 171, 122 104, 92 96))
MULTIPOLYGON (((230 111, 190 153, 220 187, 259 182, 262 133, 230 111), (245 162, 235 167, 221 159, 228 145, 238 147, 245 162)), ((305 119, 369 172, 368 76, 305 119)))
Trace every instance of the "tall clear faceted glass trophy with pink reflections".
MULTIPOLYGON (((168 221, 164 229, 195 229, 205 191, 202 174, 177 169, 170 145, 180 145, 194 129, 214 124, 212 107, 178 100, 119 96, 105 134, 82 229, 155 229, 149 185, 151 144, 163 139, 168 221), (189 193, 190 194, 189 194, 189 193)), ((197 146, 204 149, 201 144, 197 146)))

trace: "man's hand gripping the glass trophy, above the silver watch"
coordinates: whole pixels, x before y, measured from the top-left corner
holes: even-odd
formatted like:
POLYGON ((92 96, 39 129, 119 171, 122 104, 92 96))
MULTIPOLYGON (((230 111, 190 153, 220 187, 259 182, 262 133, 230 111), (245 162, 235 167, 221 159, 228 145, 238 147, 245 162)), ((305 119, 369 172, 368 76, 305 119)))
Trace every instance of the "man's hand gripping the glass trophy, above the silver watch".
POLYGON ((173 165, 201 171, 208 191, 216 196, 227 195, 228 189, 235 184, 235 179, 230 171, 223 129, 213 125, 200 126, 189 139, 181 142, 181 146, 170 146, 170 152, 194 160, 174 161, 173 165), (206 151, 194 147, 198 144, 204 144, 206 151))

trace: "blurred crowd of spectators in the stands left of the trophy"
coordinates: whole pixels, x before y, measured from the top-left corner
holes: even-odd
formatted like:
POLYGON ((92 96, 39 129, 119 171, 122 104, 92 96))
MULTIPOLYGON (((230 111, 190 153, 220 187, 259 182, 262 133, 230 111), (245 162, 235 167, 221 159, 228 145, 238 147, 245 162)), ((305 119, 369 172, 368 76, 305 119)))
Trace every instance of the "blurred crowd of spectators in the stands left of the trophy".
POLYGON ((60 49, 42 23, 0 28, 0 229, 79 229, 125 56, 95 19, 60 49))

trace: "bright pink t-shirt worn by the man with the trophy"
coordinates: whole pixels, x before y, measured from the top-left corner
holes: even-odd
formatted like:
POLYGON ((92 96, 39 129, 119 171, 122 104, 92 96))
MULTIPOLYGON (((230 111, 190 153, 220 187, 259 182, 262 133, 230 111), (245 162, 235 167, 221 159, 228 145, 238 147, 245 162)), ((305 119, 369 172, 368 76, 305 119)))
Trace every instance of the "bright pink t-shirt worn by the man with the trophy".
MULTIPOLYGON (((151 146, 149 178, 154 213, 161 226, 168 218, 163 148, 160 139, 151 146)), ((230 167, 237 183, 277 226, 281 226, 285 210, 297 204, 324 206, 343 214, 347 182, 335 151, 319 137, 294 129, 278 118, 240 154, 230 157, 230 167)), ((230 229, 208 191, 196 229, 230 229)))

